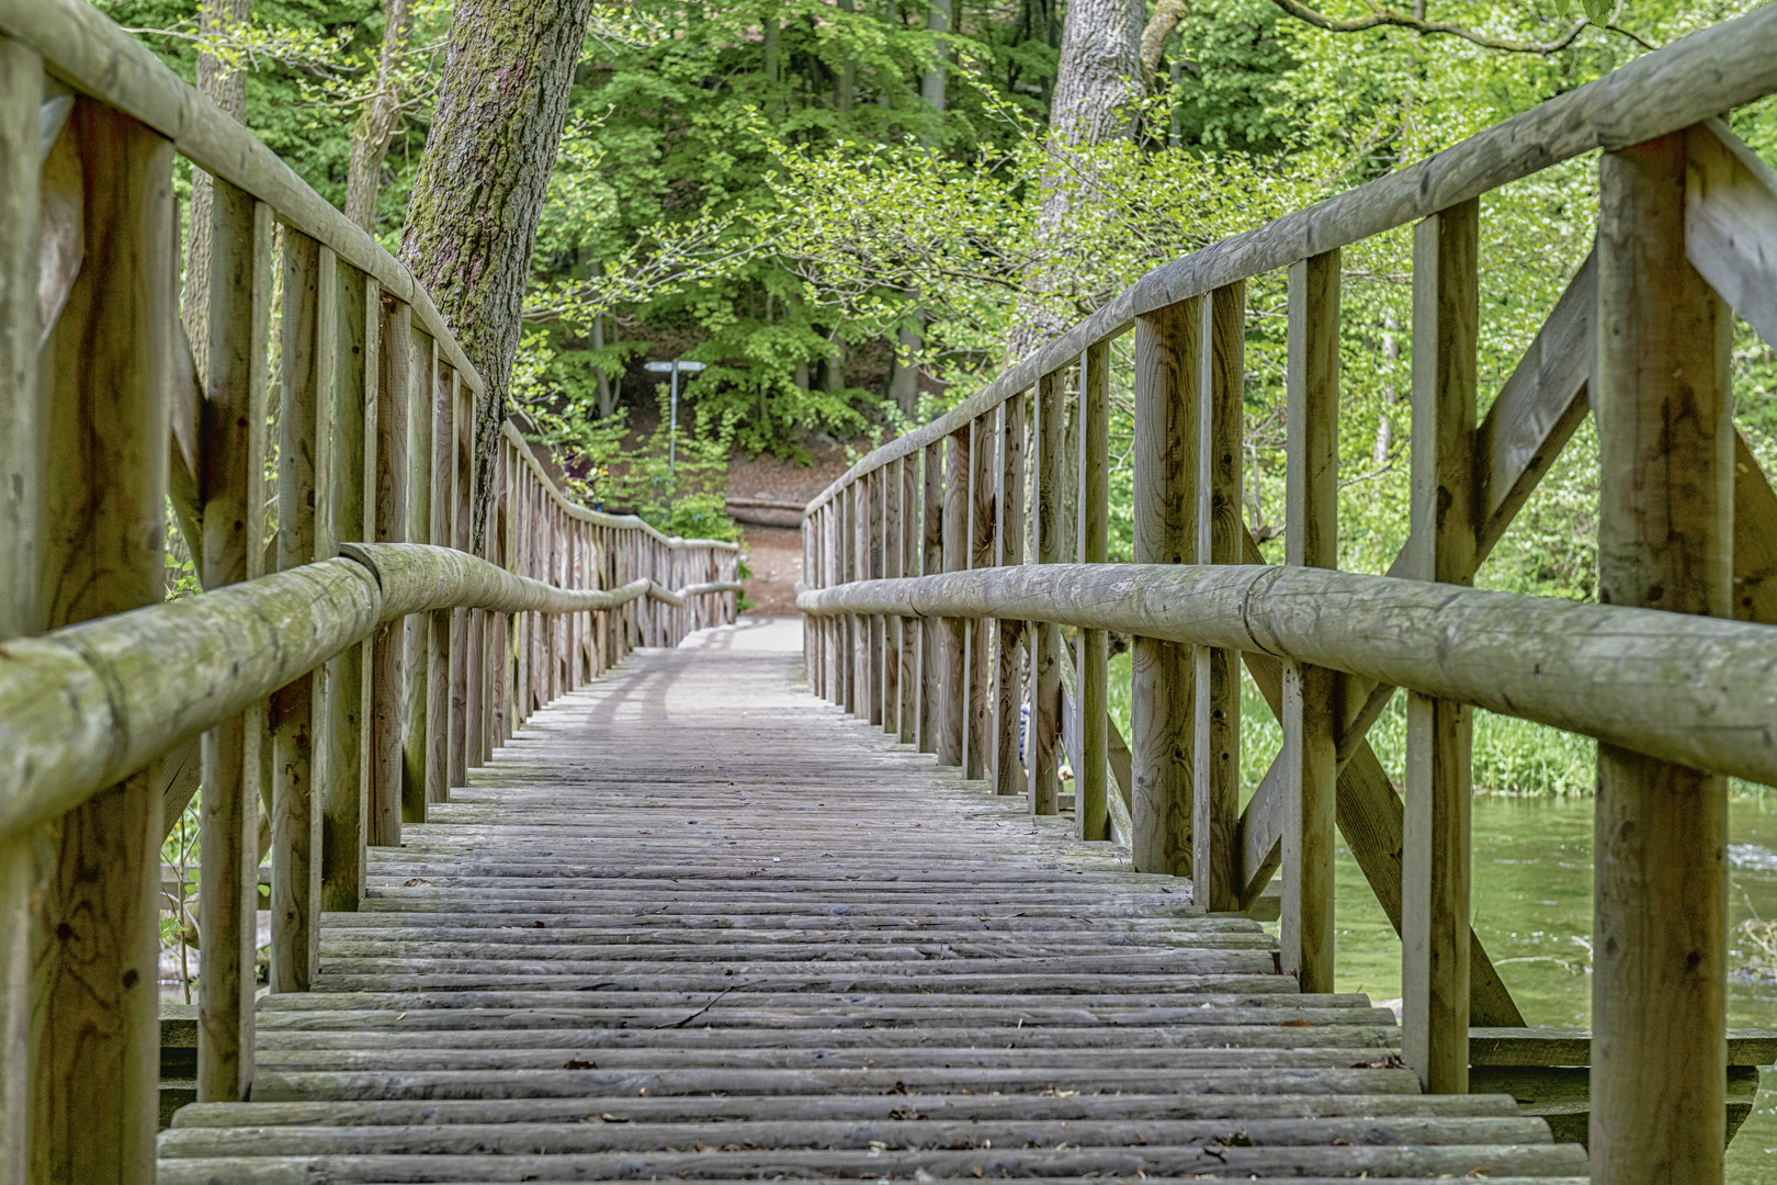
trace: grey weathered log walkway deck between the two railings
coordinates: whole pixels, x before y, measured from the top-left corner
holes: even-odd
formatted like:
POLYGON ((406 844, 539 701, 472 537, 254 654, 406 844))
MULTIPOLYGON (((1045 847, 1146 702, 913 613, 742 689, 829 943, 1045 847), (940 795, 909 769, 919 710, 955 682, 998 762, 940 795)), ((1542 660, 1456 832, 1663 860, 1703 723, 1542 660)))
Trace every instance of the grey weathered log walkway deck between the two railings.
POLYGON ((1578 1178, 1386 1009, 707 631, 531 718, 259 1002, 160 1181, 1578 1178))

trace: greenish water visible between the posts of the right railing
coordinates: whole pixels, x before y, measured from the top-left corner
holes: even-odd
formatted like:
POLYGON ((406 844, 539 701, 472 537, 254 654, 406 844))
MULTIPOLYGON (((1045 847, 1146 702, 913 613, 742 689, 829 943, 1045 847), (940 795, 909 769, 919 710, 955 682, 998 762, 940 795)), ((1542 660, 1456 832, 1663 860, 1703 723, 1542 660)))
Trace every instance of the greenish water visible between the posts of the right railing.
MULTIPOLYGON (((1590 1027, 1592 799, 1475 798, 1475 931, 1532 1025, 1590 1027)), ((1777 792, 1734 796, 1729 815, 1729 922, 1777 919, 1777 792)), ((1338 860, 1340 991, 1400 997, 1400 942, 1351 855, 1338 860)), ((1729 934, 1729 966, 1752 954, 1729 934)), ((1727 1023, 1777 1029, 1777 982, 1734 975, 1727 1023)), ((1777 1185, 1777 1071, 1727 1148, 1734 1185, 1777 1185)))

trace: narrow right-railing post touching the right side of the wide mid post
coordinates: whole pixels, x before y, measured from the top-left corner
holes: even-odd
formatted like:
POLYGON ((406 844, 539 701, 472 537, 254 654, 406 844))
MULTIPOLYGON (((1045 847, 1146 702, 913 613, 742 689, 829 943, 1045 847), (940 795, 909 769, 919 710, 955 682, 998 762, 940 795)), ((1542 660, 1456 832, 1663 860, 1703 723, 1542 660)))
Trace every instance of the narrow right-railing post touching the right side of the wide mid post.
MULTIPOLYGON (((1244 437, 1246 282, 1210 293, 1198 361, 1203 400, 1198 451, 1198 560, 1244 563, 1240 453, 1244 437)), ((1198 647, 1192 899, 1240 908, 1240 652, 1198 647)))

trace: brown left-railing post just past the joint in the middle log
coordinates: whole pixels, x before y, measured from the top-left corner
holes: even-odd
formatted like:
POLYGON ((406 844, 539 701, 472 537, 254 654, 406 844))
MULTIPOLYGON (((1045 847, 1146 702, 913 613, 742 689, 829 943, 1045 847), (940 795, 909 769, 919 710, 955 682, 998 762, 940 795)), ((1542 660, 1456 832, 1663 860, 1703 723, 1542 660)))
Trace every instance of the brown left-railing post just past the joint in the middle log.
MULTIPOLYGON (((377 334, 375 538, 407 542, 409 380, 414 370, 412 309, 384 297, 371 309, 377 334)), ((380 625, 370 647, 370 787, 364 840, 402 846, 402 748, 407 732, 407 622, 380 625)))

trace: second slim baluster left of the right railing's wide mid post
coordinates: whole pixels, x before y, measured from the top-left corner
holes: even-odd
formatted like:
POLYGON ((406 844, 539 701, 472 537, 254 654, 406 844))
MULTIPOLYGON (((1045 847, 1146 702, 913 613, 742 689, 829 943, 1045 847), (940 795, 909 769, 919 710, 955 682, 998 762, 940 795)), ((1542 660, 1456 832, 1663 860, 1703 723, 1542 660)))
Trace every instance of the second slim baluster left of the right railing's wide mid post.
MULTIPOLYGON (((1061 469, 1064 465, 1063 418, 1066 389, 1063 371, 1036 384, 1034 481, 1031 490, 1031 535, 1038 563, 1061 563, 1061 469)), ((1031 624, 1031 721, 1029 759, 1031 812, 1052 815, 1059 808, 1061 782, 1056 773, 1056 741, 1061 732, 1061 631, 1050 622, 1031 624)))

